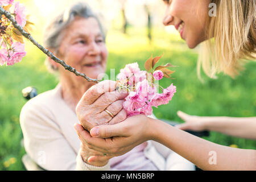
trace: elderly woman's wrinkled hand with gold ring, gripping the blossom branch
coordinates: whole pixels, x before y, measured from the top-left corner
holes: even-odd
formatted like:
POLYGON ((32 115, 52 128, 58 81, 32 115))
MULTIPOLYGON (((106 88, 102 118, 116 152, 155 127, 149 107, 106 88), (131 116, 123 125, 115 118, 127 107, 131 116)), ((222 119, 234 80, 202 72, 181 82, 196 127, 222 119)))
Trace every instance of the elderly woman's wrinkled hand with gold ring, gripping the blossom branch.
POLYGON ((115 81, 101 81, 93 85, 82 96, 76 106, 76 114, 86 130, 90 131, 93 126, 97 125, 112 125, 126 119, 123 99, 127 93, 115 90, 115 84, 115 81), (109 110, 114 118, 105 109, 109 110))

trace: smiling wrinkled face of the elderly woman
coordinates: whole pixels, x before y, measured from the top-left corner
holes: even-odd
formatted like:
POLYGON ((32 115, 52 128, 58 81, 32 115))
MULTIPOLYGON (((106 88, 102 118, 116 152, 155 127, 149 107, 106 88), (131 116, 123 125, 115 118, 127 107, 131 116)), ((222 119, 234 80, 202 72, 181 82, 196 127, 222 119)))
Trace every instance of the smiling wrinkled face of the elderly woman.
MULTIPOLYGON (((57 55, 90 78, 97 78, 100 73, 104 73, 108 50, 97 20, 76 17, 65 29, 57 55)), ((62 67, 60 74, 75 80, 84 79, 65 71, 62 67)))

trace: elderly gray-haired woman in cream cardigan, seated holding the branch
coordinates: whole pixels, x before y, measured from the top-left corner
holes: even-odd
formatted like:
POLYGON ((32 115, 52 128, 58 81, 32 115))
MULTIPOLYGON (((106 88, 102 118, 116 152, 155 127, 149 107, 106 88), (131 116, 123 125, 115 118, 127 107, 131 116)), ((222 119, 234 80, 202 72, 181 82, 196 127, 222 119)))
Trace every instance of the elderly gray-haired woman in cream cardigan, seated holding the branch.
MULTIPOLYGON (((57 57, 91 78, 97 78, 105 72, 108 51, 104 31, 97 16, 84 3, 73 5, 53 19, 46 28, 44 44, 57 57)), ((80 144, 73 125, 85 122, 77 117, 76 105, 87 90, 86 102, 79 109, 84 110, 86 115, 82 118, 90 121, 86 122, 90 125, 84 126, 89 131, 96 125, 113 124, 126 119, 122 104, 127 94, 116 92, 113 89, 114 81, 103 81, 95 90, 93 82, 65 71, 49 58, 47 63, 59 75, 59 84, 55 89, 28 101, 20 113, 24 147, 40 167, 47 170, 194 169, 195 166, 188 160, 162 144, 150 141, 107 162, 90 160, 89 164, 90 156, 102 154, 91 150, 83 140, 80 144), (108 89, 100 85, 109 85, 112 92, 100 97, 108 89)))

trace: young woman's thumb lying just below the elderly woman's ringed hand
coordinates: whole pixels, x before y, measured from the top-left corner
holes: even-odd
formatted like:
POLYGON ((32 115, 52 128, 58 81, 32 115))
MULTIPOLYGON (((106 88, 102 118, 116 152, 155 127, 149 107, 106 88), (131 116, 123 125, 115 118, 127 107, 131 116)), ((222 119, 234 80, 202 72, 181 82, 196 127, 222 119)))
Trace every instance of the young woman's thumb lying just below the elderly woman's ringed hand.
POLYGON ((93 127, 90 130, 90 135, 92 137, 98 138, 110 138, 110 137, 125 137, 124 133, 122 132, 122 127, 119 123, 115 125, 100 125, 93 127))

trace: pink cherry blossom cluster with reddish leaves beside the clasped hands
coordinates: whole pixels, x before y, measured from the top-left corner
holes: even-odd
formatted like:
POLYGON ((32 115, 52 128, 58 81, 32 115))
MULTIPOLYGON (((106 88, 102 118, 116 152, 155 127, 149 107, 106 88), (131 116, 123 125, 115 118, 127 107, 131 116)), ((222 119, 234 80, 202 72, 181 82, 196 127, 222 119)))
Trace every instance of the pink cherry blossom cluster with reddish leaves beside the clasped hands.
POLYGON ((120 90, 127 90, 129 95, 125 98, 123 108, 127 112, 127 117, 137 114, 151 115, 152 107, 168 104, 172 100, 176 92, 176 86, 171 84, 166 89, 158 84, 158 80, 163 77, 169 77, 173 72, 168 72, 167 67, 159 66, 155 70, 154 64, 158 62, 160 57, 152 58, 146 61, 145 68, 150 64, 147 71, 141 71, 138 63, 127 64, 125 68, 120 70, 117 75, 118 88, 120 90), (156 81, 157 80, 157 81, 156 81), (158 93, 158 90, 162 93, 158 93))

